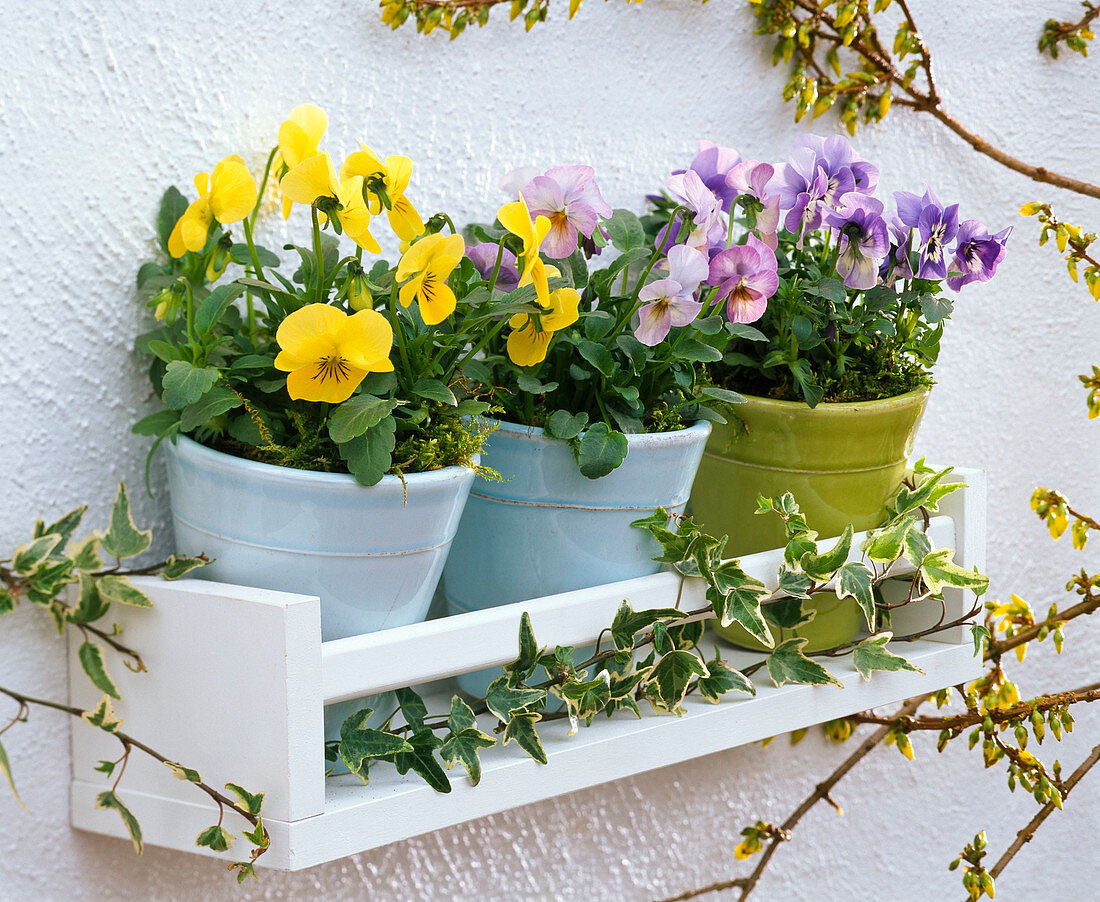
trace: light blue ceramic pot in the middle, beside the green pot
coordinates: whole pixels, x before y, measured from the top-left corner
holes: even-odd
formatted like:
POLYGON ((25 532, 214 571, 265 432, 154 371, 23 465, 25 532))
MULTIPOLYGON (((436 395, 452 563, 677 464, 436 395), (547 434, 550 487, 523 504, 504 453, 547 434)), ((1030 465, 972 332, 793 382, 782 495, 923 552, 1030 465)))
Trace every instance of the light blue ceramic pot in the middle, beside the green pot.
MULTIPOLYGON (((700 421, 675 432, 627 436, 623 464, 581 475, 566 442, 502 422, 482 462, 505 482, 477 479, 443 571, 448 614, 587 588, 656 573, 660 546, 630 524, 657 507, 682 514, 711 433, 700 421)), ((553 636, 536 637, 553 644, 553 636)), ((459 678, 483 696, 499 668, 459 678)))

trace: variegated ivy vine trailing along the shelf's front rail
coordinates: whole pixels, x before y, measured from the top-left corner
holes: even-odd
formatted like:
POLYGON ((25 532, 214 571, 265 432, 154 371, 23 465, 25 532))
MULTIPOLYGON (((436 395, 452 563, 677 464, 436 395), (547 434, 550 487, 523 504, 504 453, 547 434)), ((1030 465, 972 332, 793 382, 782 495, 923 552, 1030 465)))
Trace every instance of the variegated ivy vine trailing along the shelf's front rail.
POLYGON ((897 648, 898 642, 961 624, 971 625, 977 653, 989 635, 985 626, 974 623, 981 610, 978 601, 963 616, 950 622, 945 616, 920 632, 895 637, 890 631, 891 610, 900 604, 942 601, 947 586, 980 596, 988 586, 986 576, 954 562, 952 549, 933 549, 925 532, 928 514, 938 509, 946 495, 964 487, 961 483, 945 482, 949 472, 949 468, 934 472, 923 461, 917 462, 912 477, 892 499, 888 521, 868 534, 858 556, 853 553, 850 526, 829 550, 822 551, 817 534, 806 524, 792 495, 761 497, 757 514, 781 517, 787 531, 774 591, 746 573, 738 561, 723 559, 724 538, 706 535, 690 517, 680 518, 676 528, 669 529, 669 515, 658 509, 634 525, 660 543, 662 553, 654 560, 671 565, 684 578, 705 582, 705 607, 635 610, 624 601, 612 625, 601 634, 594 653, 582 653, 581 660, 578 649, 570 646, 540 648, 525 614, 519 654, 504 668, 504 675, 490 684, 486 697, 468 701, 455 695, 450 712, 429 715, 417 692, 399 690, 399 708, 382 726, 366 726, 373 714, 370 708, 349 717, 340 741, 326 749, 327 758, 333 763, 342 761, 364 782, 371 767, 387 762, 400 773, 413 771, 436 790, 449 792, 447 770, 462 765, 476 784, 481 779, 480 752, 497 744, 494 735, 479 726, 479 715, 491 716, 493 733, 502 737, 503 745, 514 741, 544 765, 547 755, 538 725, 550 721, 568 718, 572 734, 581 722, 590 726, 601 713, 610 716, 626 710, 640 717, 641 702, 648 702, 658 714, 681 714, 684 698, 694 693, 715 703, 727 692, 754 695, 756 688, 749 678, 763 668, 777 686, 839 686, 840 682, 815 659, 840 654, 851 654, 865 679, 875 671, 916 671, 887 644, 893 639, 897 648), (892 575, 901 561, 912 565, 912 573, 892 575), (903 602, 888 603, 883 598, 881 586, 888 580, 908 582, 903 602), (773 630, 809 623, 813 612, 803 603, 820 593, 854 598, 871 635, 812 654, 803 652, 804 638, 777 645, 773 630), (700 641, 704 623, 712 618, 723 626, 739 624, 771 651, 740 671, 730 667, 717 648, 707 659, 700 641))

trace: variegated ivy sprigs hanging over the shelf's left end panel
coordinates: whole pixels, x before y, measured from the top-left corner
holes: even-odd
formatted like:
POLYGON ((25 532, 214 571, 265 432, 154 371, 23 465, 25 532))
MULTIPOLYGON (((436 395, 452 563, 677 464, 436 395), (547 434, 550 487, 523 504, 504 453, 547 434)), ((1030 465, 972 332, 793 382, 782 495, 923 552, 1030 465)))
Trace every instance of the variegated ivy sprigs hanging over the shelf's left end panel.
MULTIPOLYGON (((135 673, 145 670, 145 662, 136 650, 122 642, 121 630, 117 625, 110 628, 102 626, 108 623, 106 618, 111 612, 111 605, 152 607, 153 602, 130 581, 131 576, 160 574, 166 580, 178 580, 206 564, 207 560, 173 554, 167 560, 148 566, 123 566, 122 561, 135 558, 148 549, 153 534, 152 530, 139 529, 134 525, 130 513, 130 497, 125 485, 121 483, 107 531, 94 531, 74 541, 86 512, 87 507, 78 507, 48 526, 38 520, 34 525, 31 541, 16 548, 10 559, 0 561, 0 616, 14 613, 16 607, 22 606, 21 602, 26 602, 32 610, 48 616, 58 634, 77 630, 82 639, 77 657, 88 679, 103 695, 92 711, 86 711, 45 698, 34 698, 0 685, 0 694, 7 695, 16 704, 14 715, 0 726, 0 736, 15 724, 25 722, 32 707, 64 712, 79 717, 89 727, 114 736, 122 746, 122 755, 113 761, 100 761, 96 767, 97 771, 114 777, 111 788, 97 796, 96 806, 112 809, 119 813, 139 855, 143 849, 141 824, 120 795, 119 783, 134 749, 155 758, 180 780, 194 783, 196 789, 206 793, 218 806, 218 823, 199 834, 197 846, 209 846, 215 851, 224 851, 230 847, 235 837, 222 826, 227 809, 237 812, 252 825, 251 831, 243 832, 244 838, 252 844, 249 858, 234 861, 229 868, 237 871, 238 882, 249 876, 255 877, 255 860, 270 845, 261 817, 263 793, 251 793, 237 783, 226 783, 224 789, 230 795, 223 794, 204 782, 194 768, 173 761, 140 739, 123 733, 122 719, 116 715, 112 705, 112 702, 120 698, 120 693, 107 666, 107 649, 118 654, 122 663, 135 673), (103 557, 110 562, 105 563, 103 557)), ((8 781, 15 801, 23 805, 2 745, 0 773, 8 781)))

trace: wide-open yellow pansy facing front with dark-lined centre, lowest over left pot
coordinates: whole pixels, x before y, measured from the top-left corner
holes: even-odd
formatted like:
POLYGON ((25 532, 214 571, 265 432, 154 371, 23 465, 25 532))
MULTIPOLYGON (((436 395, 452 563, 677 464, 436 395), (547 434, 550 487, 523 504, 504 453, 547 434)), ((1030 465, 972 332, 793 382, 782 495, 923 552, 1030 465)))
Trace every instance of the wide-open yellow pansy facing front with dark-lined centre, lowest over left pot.
POLYGON ((348 316, 328 304, 307 304, 283 320, 275 340, 282 349, 275 369, 289 373, 286 391, 294 400, 340 404, 367 373, 394 369, 394 330, 375 310, 348 316))

